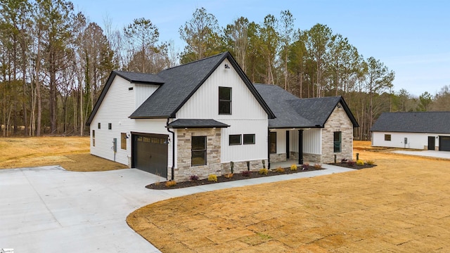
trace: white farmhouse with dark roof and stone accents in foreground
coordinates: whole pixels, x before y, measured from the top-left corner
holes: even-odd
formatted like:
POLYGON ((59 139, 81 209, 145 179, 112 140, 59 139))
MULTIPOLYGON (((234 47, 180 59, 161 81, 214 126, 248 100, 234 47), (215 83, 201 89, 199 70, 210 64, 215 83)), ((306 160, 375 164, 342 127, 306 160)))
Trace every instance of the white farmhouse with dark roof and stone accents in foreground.
POLYGON ((228 52, 158 74, 113 71, 86 124, 92 155, 177 181, 351 159, 358 126, 341 97, 254 85, 228 52))

